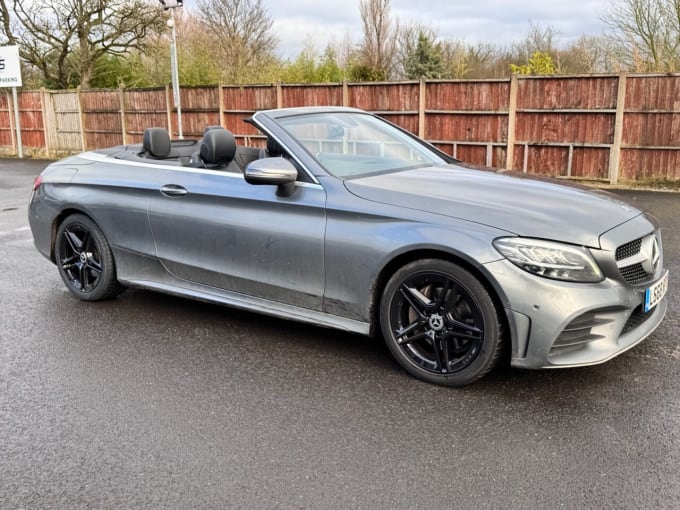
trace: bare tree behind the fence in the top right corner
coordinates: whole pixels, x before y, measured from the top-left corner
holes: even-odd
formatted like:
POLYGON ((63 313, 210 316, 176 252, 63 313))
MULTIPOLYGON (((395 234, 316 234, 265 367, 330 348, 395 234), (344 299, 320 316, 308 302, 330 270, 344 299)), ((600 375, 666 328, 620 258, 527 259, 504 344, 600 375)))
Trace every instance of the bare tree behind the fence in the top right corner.
POLYGON ((680 70, 680 1, 612 0, 602 19, 629 69, 680 70))

